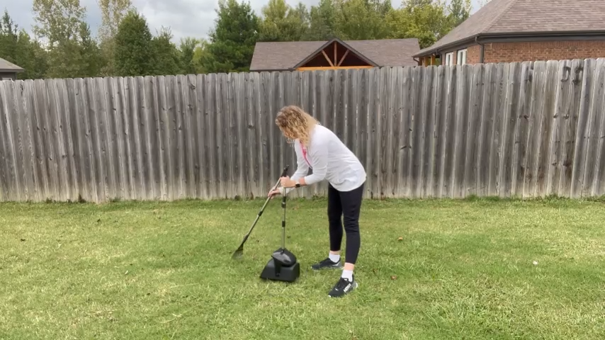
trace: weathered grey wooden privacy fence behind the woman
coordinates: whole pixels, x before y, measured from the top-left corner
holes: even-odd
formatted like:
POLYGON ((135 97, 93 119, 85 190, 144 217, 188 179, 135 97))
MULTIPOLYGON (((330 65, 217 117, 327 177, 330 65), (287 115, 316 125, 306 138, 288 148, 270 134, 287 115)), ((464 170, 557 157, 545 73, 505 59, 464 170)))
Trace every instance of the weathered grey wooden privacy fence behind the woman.
MULTIPOLYGON (((296 104, 366 197, 605 194, 605 60, 0 82, 0 200, 266 196, 296 104)), ((326 184, 295 195, 323 195, 326 184)))

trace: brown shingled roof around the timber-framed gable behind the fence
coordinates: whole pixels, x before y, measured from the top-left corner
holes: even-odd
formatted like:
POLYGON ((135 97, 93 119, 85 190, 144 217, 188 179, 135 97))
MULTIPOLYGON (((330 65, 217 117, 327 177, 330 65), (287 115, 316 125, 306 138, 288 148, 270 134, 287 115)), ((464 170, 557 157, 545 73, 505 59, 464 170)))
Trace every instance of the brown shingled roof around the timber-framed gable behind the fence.
MULTIPOLYGON (((360 57, 365 57, 370 64, 378 67, 417 66, 414 53, 420 50, 418 40, 383 39, 383 40, 338 40, 346 47, 353 49, 360 57)), ((308 57, 320 52, 323 46, 334 40, 293 41, 293 42, 256 42, 254 55, 250 64, 251 72, 294 69, 308 57)))

